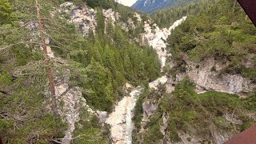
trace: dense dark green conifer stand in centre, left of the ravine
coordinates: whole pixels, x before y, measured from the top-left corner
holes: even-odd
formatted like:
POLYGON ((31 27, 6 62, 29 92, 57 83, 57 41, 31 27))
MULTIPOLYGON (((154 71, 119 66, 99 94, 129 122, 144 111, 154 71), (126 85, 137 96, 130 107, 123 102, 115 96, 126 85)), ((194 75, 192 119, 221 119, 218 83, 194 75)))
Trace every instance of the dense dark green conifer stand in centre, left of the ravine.
MULTIPOLYGON (((75 49, 68 49, 69 56, 65 51, 56 51, 62 57, 70 58, 74 66, 71 83, 82 88, 90 106, 110 111, 114 102, 122 98, 124 82, 130 81, 134 85, 150 82, 160 74, 160 64, 152 48, 142 48, 130 42, 127 33, 120 27, 115 26, 107 32, 103 35, 104 28, 99 28, 96 36, 88 41, 78 37, 79 44, 74 43, 75 49)), ((58 38, 61 35, 54 39, 58 38)), ((70 44, 66 43, 66 46, 70 44)))

